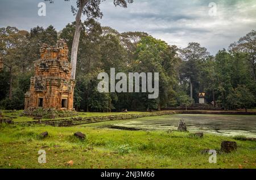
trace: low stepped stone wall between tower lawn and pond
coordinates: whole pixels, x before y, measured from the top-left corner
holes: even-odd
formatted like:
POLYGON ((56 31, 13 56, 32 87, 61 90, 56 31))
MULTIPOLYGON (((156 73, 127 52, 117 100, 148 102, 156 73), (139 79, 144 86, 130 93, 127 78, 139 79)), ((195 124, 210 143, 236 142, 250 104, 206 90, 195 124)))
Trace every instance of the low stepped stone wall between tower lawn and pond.
POLYGON ((15 124, 24 125, 24 126, 41 124, 41 125, 49 125, 49 126, 67 127, 67 126, 84 125, 87 123, 135 119, 135 118, 153 117, 153 116, 170 115, 170 114, 174 114, 174 112, 164 111, 164 112, 152 112, 152 113, 141 113, 141 114, 125 114, 124 113, 120 115, 108 115, 108 116, 101 116, 101 117, 85 117, 85 118, 72 117, 72 118, 66 118, 66 119, 15 122, 15 124))

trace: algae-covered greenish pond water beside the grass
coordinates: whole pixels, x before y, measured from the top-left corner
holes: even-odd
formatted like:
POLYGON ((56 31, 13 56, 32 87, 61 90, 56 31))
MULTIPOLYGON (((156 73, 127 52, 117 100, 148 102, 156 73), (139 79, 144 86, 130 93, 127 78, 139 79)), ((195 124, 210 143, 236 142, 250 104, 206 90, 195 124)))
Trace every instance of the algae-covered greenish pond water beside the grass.
POLYGON ((227 136, 244 135, 256 138, 255 115, 174 114, 98 123, 94 126, 119 130, 177 130, 181 118, 191 132, 210 132, 227 136))

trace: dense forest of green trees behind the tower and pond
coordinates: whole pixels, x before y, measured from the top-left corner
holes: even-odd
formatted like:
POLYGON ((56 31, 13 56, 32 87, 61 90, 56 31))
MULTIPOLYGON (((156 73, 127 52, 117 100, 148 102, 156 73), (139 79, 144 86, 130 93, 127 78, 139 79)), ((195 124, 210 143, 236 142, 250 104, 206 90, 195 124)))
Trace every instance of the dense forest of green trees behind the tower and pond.
MULTIPOLYGON (((205 92, 208 104, 224 109, 252 108, 256 100, 256 31, 245 33, 228 49, 213 56, 197 42, 184 49, 168 45, 145 32, 119 33, 96 20, 82 23, 77 54, 74 108, 90 112, 112 110, 161 110, 198 103, 205 92), (99 93, 100 72, 159 72, 159 97, 147 93, 99 93), (192 87, 192 88, 191 88, 192 87), (191 92, 192 98, 191 100, 191 92)), ((0 28, 0 108, 23 109, 24 93, 33 75, 33 61, 39 59, 43 43, 55 45, 58 38, 69 47, 69 59, 76 23, 60 32, 50 25, 31 28, 0 28)))

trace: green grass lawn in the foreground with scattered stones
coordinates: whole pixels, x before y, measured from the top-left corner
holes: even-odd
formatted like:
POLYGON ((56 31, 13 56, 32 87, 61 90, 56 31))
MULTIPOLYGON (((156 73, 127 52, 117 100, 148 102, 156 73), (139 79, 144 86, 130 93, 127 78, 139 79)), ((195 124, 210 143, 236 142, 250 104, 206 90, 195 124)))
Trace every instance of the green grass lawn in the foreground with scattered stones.
POLYGON ((1 125, 0 168, 256 168, 256 142, 240 140, 237 152, 218 154, 217 164, 209 164, 210 155, 201 151, 220 149, 222 140, 234 141, 176 131, 1 125), (49 132, 46 139, 39 136, 44 131, 49 132), (73 136, 77 131, 84 132, 86 140, 73 136), (47 153, 46 164, 38 163, 40 149, 47 153), (70 160, 73 166, 66 165, 70 160))

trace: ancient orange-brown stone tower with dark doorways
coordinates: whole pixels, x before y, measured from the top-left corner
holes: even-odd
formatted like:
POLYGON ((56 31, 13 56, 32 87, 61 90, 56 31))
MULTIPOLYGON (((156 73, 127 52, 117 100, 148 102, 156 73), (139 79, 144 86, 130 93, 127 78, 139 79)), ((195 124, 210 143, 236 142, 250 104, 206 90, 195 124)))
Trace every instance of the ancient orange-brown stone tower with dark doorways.
POLYGON ((55 46, 44 44, 34 67, 35 76, 31 77, 30 91, 25 94, 25 110, 73 110, 75 80, 71 80, 67 44, 63 40, 55 46))

